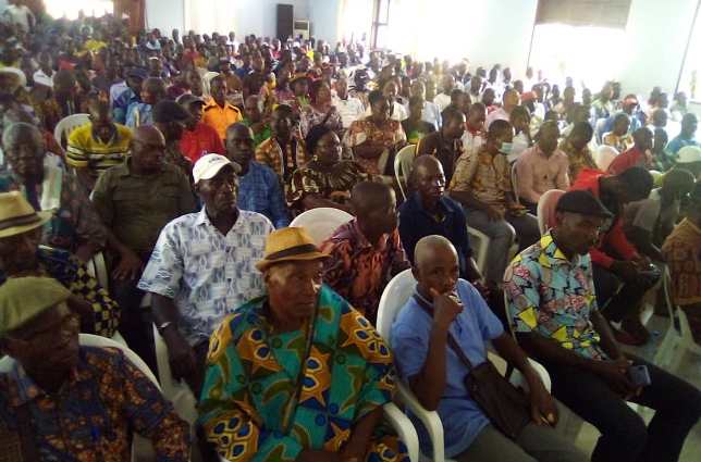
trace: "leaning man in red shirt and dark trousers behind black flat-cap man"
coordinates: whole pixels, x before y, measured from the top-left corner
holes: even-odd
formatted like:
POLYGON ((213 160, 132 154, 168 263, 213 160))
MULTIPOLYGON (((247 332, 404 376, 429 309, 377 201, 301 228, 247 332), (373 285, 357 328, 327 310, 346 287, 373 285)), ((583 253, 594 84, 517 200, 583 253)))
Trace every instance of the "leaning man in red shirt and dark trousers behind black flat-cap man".
POLYGON ((642 298, 659 277, 649 274, 650 261, 626 238, 623 214, 627 203, 650 196, 652 176, 641 167, 616 176, 583 170, 571 189, 590 191, 613 214, 591 249, 597 301, 610 322, 622 323, 620 329, 614 332, 618 341, 642 345, 650 335, 640 322, 642 298))

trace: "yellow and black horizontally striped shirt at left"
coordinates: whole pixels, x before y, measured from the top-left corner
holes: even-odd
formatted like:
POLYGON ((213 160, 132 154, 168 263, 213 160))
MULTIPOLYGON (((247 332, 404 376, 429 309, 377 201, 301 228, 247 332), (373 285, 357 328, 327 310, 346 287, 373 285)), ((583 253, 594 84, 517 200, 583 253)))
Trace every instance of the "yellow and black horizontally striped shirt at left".
POLYGON ((111 166, 121 165, 130 150, 132 130, 114 124, 116 132, 108 142, 93 135, 93 124, 83 125, 69 136, 65 160, 74 168, 88 168, 95 177, 111 166))

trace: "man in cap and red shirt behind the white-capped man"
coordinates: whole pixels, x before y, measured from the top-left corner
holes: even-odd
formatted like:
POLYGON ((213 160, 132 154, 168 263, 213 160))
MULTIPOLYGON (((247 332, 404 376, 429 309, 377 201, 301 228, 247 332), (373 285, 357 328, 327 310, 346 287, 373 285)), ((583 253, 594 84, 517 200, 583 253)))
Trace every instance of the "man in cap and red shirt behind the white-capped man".
POLYGON ((192 93, 177 98, 176 102, 189 113, 180 139, 180 151, 194 164, 205 154, 224 154, 224 145, 216 129, 202 123, 205 100, 192 93))

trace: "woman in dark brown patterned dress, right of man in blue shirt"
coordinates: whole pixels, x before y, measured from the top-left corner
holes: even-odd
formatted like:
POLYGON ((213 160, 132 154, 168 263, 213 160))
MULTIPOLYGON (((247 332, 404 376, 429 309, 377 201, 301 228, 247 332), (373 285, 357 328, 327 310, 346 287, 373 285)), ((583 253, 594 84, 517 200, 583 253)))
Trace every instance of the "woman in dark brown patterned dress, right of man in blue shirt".
POLYGON ((305 143, 312 158, 292 175, 287 195, 290 209, 304 212, 331 207, 352 213, 350 190, 368 179, 368 175, 358 163, 341 160, 341 141, 328 126, 312 127, 305 143))

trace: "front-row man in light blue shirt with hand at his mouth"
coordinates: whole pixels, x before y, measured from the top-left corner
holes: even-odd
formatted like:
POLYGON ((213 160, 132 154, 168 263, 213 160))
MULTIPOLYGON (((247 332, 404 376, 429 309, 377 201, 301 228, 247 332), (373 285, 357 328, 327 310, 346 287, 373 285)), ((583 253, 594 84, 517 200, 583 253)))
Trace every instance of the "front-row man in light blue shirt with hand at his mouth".
MULTIPOLYGON (((442 236, 422 238, 416 246, 413 272, 418 284, 394 321, 392 349, 402 380, 421 405, 438 411, 445 455, 460 462, 586 461, 551 426, 557 421, 557 407, 526 354, 475 287, 458 277, 455 247, 442 236), (489 341, 521 371, 530 389, 532 421, 513 439, 470 397, 465 383, 470 367, 451 351, 459 348, 478 367, 488 361, 489 341)), ((425 436, 421 432, 422 442, 425 436)))

